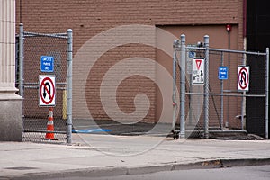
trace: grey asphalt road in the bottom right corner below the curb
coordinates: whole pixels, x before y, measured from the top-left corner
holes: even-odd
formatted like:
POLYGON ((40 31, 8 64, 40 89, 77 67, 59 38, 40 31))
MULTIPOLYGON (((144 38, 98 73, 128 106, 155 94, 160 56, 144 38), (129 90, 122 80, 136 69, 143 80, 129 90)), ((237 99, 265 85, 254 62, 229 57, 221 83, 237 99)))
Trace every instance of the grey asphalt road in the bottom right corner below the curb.
MULTIPOLYGON (((109 177, 67 177, 58 180, 269 180, 270 165, 268 166, 235 166, 230 168, 191 169, 181 171, 164 171, 146 175, 121 175, 109 177)), ((57 180, 57 179, 52 179, 57 180)))

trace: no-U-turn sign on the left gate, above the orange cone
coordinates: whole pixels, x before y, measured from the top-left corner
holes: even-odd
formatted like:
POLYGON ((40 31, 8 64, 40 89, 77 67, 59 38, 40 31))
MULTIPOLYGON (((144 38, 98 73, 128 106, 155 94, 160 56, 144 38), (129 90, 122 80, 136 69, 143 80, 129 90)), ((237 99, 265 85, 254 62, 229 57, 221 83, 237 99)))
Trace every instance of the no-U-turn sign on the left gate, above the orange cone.
POLYGON ((40 76, 40 106, 55 106, 55 76, 40 76))

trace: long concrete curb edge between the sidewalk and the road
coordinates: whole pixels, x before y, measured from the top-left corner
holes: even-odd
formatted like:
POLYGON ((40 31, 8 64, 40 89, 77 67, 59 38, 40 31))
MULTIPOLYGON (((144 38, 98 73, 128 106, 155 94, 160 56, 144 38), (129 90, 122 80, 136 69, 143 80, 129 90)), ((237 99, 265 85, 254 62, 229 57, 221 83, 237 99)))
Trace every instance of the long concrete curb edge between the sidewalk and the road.
MULTIPOLYGON (((246 159, 215 159, 205 160, 189 164, 171 163, 157 166, 137 166, 137 167, 104 167, 86 168, 69 171, 27 174, 22 176, 6 177, 9 180, 28 180, 28 179, 50 179, 65 177, 101 177, 117 175, 141 175, 157 173, 160 171, 188 170, 188 169, 211 169, 232 166, 263 166, 270 165, 270 158, 246 158, 246 159)), ((5 177, 1 177, 1 180, 5 177)))

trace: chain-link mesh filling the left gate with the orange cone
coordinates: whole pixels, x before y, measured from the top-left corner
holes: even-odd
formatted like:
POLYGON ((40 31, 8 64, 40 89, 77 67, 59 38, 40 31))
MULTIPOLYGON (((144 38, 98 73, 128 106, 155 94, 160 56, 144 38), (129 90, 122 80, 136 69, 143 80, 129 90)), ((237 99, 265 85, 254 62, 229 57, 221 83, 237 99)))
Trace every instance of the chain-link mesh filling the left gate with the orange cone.
POLYGON ((37 34, 24 31, 23 44, 23 140, 66 141, 66 76, 67 38, 54 34, 37 34), (54 71, 41 72, 40 58, 54 58, 54 71), (56 94, 53 107, 54 139, 46 139, 49 106, 40 106, 39 76, 55 76, 56 94))

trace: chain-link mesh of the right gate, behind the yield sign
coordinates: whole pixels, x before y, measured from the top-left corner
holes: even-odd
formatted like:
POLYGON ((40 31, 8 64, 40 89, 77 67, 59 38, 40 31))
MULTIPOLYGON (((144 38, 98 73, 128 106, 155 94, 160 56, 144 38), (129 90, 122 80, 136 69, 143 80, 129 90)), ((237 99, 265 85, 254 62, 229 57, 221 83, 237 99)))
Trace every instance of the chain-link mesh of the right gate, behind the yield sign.
MULTIPOLYGON (((181 53, 180 53, 181 54, 181 53)), ((179 56, 179 53, 178 53, 179 56)), ((176 57, 177 58, 177 57, 176 57)), ((240 51, 229 51, 222 49, 210 49, 209 51, 209 103, 204 104, 205 89, 204 83, 193 84, 193 78, 201 78, 193 74, 193 59, 205 58, 205 49, 186 49, 185 69, 185 132, 186 137, 204 137, 205 132, 205 109, 209 110, 208 129, 210 132, 218 131, 243 131, 246 125, 257 126, 261 132, 265 131, 266 108, 254 107, 257 111, 247 111, 250 103, 265 104, 266 101, 266 54, 244 53, 240 51), (250 72, 245 76, 238 76, 238 66, 250 66, 250 72), (220 67, 227 67, 227 76, 219 75, 220 67), (253 78, 250 78, 253 76, 253 78), (250 80, 253 79, 253 80, 250 80), (257 79, 255 82, 254 79, 257 79), (238 89, 238 83, 247 80, 249 91, 238 89), (205 105, 208 107, 205 108, 205 105), (257 113, 259 112, 259 113, 257 113), (258 115, 259 114, 259 115, 258 115), (255 124, 247 121, 248 118, 259 118, 255 124), (256 117, 257 116, 257 117, 256 117)), ((177 58, 177 65, 180 59, 177 58)), ((207 60, 207 59, 205 59, 207 60)), ((204 63, 204 62, 202 62, 204 63)), ((175 67, 175 85, 180 89, 180 70, 175 67)), ((202 75, 201 75, 202 76, 202 75)), ((183 104, 180 104, 183 105, 183 104)), ((255 110, 254 109, 254 110, 255 110)), ((179 109, 175 110, 179 111, 179 109)), ((179 117, 177 117, 179 123, 179 117)), ((177 127, 177 126, 176 126, 177 127)), ((262 134, 263 135, 263 134, 262 134)))

